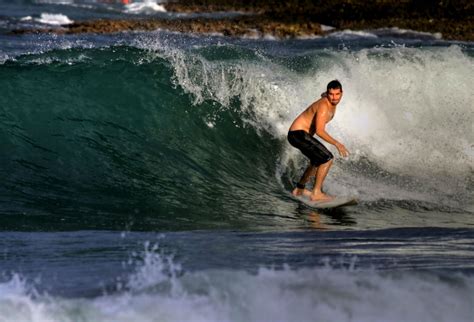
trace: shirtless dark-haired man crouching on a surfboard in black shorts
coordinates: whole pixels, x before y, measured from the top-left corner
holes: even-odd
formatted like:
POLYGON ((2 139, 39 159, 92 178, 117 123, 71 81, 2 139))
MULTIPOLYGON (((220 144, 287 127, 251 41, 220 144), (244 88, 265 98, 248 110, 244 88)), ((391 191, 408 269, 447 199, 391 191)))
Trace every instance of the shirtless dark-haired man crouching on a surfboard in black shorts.
POLYGON ((311 161, 292 192, 295 196, 306 195, 312 201, 329 201, 334 198, 321 190, 334 156, 313 135, 317 134, 324 141, 334 145, 341 156, 349 155, 346 147, 326 132, 326 124, 334 117, 336 106, 341 98, 341 83, 337 80, 329 82, 326 92, 321 95, 321 98, 298 115, 291 124, 288 131, 288 142, 311 161), (316 181, 313 191, 305 189, 309 178, 314 175, 316 175, 316 181))

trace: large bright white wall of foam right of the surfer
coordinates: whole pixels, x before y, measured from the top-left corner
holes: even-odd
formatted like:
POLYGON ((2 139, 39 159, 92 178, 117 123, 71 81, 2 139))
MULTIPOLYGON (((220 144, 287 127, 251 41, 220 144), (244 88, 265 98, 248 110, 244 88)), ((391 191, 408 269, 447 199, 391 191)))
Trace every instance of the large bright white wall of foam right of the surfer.
POLYGON ((348 69, 331 72, 345 84, 334 130, 347 144, 397 173, 472 170, 474 64, 461 48, 364 50, 343 59, 348 69))

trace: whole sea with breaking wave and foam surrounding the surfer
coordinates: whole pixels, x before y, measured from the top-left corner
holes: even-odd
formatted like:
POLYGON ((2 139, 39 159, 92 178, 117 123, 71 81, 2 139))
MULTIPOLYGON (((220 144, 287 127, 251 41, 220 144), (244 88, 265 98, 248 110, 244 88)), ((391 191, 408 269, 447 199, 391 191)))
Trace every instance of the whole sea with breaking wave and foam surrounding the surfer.
POLYGON ((10 33, 142 16, 185 17, 0 1, 0 321, 473 321, 474 43, 10 33), (316 212, 286 133, 332 79, 359 204, 316 212))

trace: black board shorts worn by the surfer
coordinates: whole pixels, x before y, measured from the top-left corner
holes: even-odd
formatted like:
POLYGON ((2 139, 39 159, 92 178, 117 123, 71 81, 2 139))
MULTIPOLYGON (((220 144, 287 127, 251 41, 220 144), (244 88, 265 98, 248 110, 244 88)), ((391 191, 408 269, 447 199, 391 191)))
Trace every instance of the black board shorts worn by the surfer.
POLYGON ((288 132, 288 142, 308 157, 313 166, 317 167, 334 158, 331 151, 306 131, 288 132))

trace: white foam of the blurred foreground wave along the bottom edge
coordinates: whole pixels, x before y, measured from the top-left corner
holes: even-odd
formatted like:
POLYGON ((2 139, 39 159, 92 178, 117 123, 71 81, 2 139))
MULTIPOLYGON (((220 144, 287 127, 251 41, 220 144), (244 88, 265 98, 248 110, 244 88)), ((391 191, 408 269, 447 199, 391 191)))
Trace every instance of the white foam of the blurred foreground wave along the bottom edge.
MULTIPOLYGON (((147 247, 129 288, 95 298, 33 295, 0 284, 0 321, 471 321, 474 279, 330 266, 173 274, 147 247), (443 299, 440 301, 440 299, 443 299)), ((328 262, 330 260, 328 259, 328 262)))

